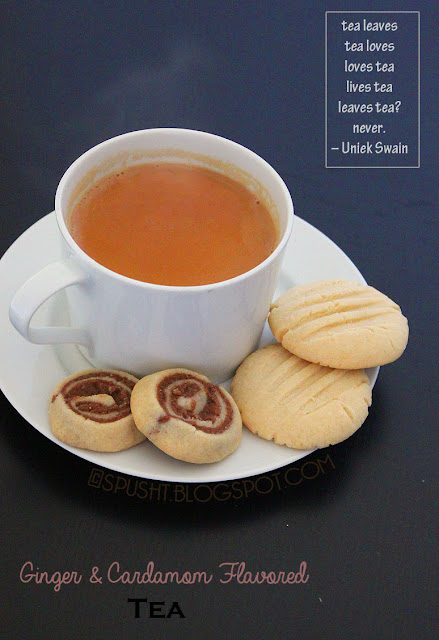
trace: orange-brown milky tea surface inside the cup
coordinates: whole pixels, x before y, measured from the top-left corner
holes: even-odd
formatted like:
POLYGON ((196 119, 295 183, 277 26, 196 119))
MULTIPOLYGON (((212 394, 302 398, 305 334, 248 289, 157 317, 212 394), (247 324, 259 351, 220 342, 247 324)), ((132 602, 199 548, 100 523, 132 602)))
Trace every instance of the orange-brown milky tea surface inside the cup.
POLYGON ((91 258, 124 276, 162 285, 221 282, 275 249, 261 197, 211 169, 149 162, 101 178, 76 203, 70 232, 91 258))

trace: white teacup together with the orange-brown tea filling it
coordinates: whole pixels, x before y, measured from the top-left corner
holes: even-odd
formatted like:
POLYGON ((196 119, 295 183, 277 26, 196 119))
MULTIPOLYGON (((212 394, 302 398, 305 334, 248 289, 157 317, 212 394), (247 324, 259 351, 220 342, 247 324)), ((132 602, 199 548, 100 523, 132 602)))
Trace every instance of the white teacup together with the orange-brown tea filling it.
POLYGON ((64 258, 10 307, 27 340, 75 343, 98 368, 183 366, 217 382, 256 348, 293 222, 258 155, 201 131, 134 131, 71 165, 55 213, 64 258), (31 326, 62 289, 71 326, 31 326))

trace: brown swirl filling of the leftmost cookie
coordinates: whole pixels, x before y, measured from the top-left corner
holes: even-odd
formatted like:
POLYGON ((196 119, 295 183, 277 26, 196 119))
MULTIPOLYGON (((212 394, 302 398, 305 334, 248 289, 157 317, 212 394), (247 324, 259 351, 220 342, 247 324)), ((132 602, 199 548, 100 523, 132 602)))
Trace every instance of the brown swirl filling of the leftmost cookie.
POLYGON ((95 371, 69 380, 59 393, 75 413, 94 422, 115 422, 131 413, 131 391, 135 382, 111 371, 95 371))

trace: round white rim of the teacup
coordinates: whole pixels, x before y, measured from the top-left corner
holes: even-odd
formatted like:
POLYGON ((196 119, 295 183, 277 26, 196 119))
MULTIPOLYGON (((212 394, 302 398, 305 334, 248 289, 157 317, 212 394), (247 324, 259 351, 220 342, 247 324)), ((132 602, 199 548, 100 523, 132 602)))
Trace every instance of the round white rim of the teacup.
MULTIPOLYGON (((215 154, 212 154, 212 157, 214 158, 215 154)), ((55 214, 56 214, 58 228, 65 242, 67 243, 68 247, 71 249, 71 251, 74 254, 79 255, 86 265, 89 265, 94 269, 96 269, 97 271, 100 271, 101 273, 104 273, 107 276, 115 278, 116 280, 129 284, 131 286, 135 285, 144 289, 151 289, 155 291, 164 290, 168 292, 178 291, 181 293, 191 293, 191 292, 211 291, 212 289, 220 289, 223 287, 233 285, 235 283, 246 280, 247 278, 250 278, 252 275, 255 275, 259 271, 262 271, 263 269, 268 267, 268 265, 271 264, 277 258, 277 256, 282 252, 282 250, 284 249, 284 247, 286 246, 287 242, 290 239, 291 231, 293 228, 293 220, 294 220, 294 205, 293 205, 293 201, 291 198, 291 194, 288 190, 288 187, 286 186, 285 182, 280 177, 280 175, 277 173, 277 171, 273 169, 273 167, 266 160, 261 158, 261 156, 259 156, 254 151, 251 151, 251 149, 248 149, 247 147, 239 144, 238 142, 234 142, 233 140, 229 140, 228 138, 225 138, 223 136, 218 136, 214 133, 208 133, 206 131, 199 131, 197 129, 182 129, 177 127, 159 127, 159 128, 153 128, 153 129, 138 129, 136 131, 129 131, 127 133, 114 136, 112 138, 109 138, 108 140, 104 140, 103 142, 100 142, 99 144, 95 145, 94 147, 91 147, 90 149, 85 151, 83 154, 81 154, 69 166, 69 168, 66 170, 66 172, 64 173, 64 175, 62 176, 59 182, 59 185, 55 194, 55 214), (144 282, 142 280, 136 280, 135 278, 130 278, 128 276, 122 275, 121 273, 117 273, 116 271, 112 271, 108 267, 105 267, 104 265, 100 264, 99 262, 91 258, 87 253, 85 253, 85 251, 83 251, 81 247, 73 239, 67 227, 66 221, 64 219, 64 215, 61 207, 61 200, 63 197, 64 189, 66 188, 66 185, 68 184, 68 181, 70 180, 72 173, 74 173, 74 171, 78 168, 78 166, 82 164, 84 160, 87 159, 90 155, 97 153, 98 151, 102 150, 105 146, 114 144, 116 140, 119 140, 121 138, 128 138, 130 136, 134 137, 134 136, 137 136, 139 133, 144 133, 144 132, 151 132, 154 134, 159 133, 159 135, 163 133, 165 136, 171 135, 172 133, 176 134, 176 133, 182 133, 182 132, 184 132, 185 134, 187 133, 187 134, 199 135, 203 137, 207 136, 210 139, 221 140, 223 143, 225 142, 236 148, 239 148, 241 153, 244 152, 248 154, 253 160, 253 162, 256 162, 261 166, 263 166, 264 170, 268 171, 273 177, 273 179, 275 180, 275 182, 278 183, 278 186, 283 192, 283 196, 286 204, 287 223, 285 226, 285 230, 282 234, 282 237, 280 238, 274 251, 267 258, 265 258, 265 260, 260 262, 258 265, 256 265, 249 271, 245 271, 244 273, 234 276, 233 278, 228 278, 227 280, 221 280, 220 282, 212 282, 210 284, 187 285, 187 286, 155 284, 153 282, 144 282)))

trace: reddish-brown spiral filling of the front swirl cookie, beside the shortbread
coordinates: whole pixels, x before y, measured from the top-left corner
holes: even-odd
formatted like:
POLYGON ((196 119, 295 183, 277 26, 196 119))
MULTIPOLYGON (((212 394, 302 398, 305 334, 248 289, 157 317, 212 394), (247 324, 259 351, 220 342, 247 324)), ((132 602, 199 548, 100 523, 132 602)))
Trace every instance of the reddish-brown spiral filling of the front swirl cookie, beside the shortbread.
POLYGON ((189 373, 163 378, 157 399, 165 412, 159 422, 177 418, 205 433, 222 433, 232 422, 233 408, 222 389, 189 373))

